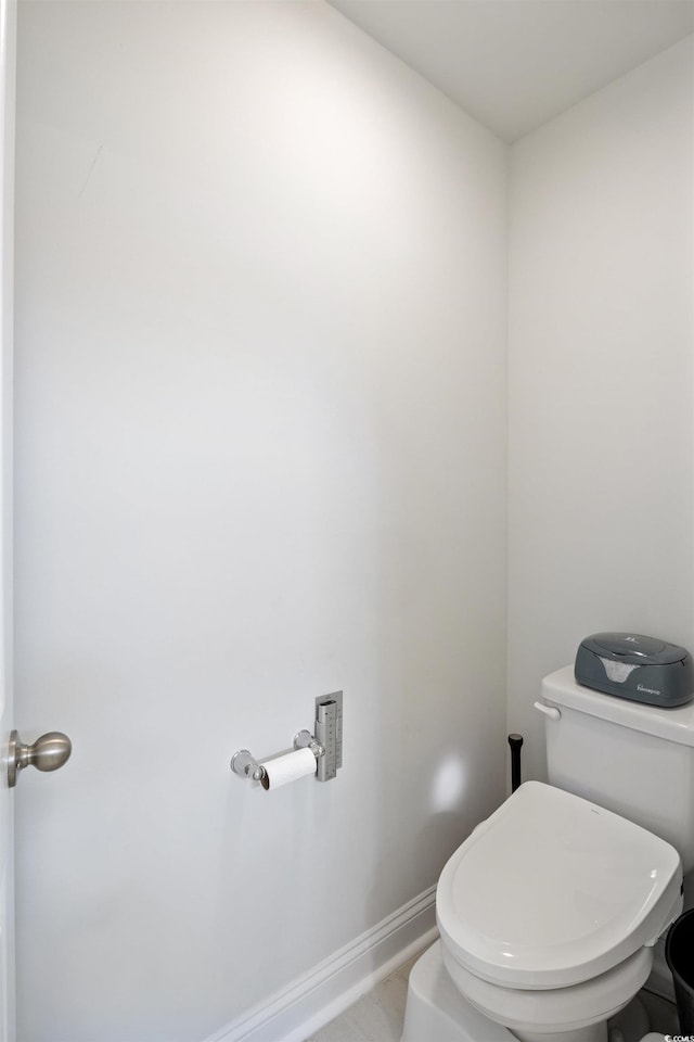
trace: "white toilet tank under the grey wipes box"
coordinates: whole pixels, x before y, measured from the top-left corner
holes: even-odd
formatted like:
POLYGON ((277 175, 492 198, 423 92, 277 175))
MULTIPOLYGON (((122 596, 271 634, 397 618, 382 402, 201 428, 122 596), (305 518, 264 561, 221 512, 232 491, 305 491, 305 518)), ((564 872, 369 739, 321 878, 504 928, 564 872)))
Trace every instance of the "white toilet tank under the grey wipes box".
POLYGON ((542 681, 552 785, 643 825, 694 867, 694 702, 660 709, 581 687, 573 665, 542 681))

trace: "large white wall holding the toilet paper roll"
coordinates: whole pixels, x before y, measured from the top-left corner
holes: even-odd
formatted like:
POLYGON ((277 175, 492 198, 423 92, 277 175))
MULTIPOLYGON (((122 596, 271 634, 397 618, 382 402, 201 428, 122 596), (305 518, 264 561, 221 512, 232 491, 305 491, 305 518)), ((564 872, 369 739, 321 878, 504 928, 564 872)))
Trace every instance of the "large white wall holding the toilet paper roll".
POLYGON ((322 3, 20 21, 20 1037, 193 1042, 503 797, 505 153, 322 3))

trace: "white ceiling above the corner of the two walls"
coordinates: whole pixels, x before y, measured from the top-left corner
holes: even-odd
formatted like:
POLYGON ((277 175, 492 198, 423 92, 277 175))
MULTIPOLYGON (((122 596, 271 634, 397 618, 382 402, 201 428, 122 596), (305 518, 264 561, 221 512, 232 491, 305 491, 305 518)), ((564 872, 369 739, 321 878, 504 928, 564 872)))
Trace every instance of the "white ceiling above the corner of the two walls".
POLYGON ((694 31, 694 0, 329 2, 505 141, 694 31))

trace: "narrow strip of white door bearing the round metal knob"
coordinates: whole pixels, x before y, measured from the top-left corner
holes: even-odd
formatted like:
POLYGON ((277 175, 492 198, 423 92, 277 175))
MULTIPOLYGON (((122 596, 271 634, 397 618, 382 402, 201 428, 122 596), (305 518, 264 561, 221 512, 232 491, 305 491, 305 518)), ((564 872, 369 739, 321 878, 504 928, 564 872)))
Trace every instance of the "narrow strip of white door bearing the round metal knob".
MULTIPOLYGON (((12 301, 15 0, 0 0, 0 741, 12 730, 12 301)), ((12 789, 0 761, 0 1042, 14 1031, 12 789)))

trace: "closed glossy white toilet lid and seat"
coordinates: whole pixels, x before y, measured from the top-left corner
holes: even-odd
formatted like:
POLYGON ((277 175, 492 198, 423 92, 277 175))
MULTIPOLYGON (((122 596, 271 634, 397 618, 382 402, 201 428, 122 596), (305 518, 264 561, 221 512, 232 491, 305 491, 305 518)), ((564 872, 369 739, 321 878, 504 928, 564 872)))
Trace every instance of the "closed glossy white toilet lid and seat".
POLYGON ((580 797, 526 782, 448 861, 449 952, 485 980, 558 988, 654 943, 681 907, 678 852, 580 797))

